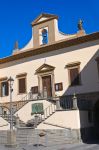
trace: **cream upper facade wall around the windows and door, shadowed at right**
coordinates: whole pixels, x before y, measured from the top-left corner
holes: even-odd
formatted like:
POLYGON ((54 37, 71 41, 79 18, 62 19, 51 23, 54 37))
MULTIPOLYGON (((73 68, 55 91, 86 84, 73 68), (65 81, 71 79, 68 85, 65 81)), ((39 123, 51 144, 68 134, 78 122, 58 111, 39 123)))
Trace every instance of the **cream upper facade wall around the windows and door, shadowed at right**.
MULTIPOLYGON (((30 91, 31 87, 38 86, 38 78, 35 75, 35 71, 46 62, 46 64, 55 67, 55 83, 63 83, 63 91, 56 92, 56 95, 70 95, 74 92, 95 92, 99 91, 99 76, 97 62, 95 61, 98 56, 99 41, 97 40, 2 64, 0 65, 0 78, 10 76, 14 78, 13 101, 21 100, 30 91), (66 65, 77 61, 81 62, 81 85, 70 87, 66 65), (27 73, 27 93, 18 94, 18 79, 16 75, 25 72, 27 73)), ((9 96, 0 97, 0 102, 7 101, 9 101, 9 96)))

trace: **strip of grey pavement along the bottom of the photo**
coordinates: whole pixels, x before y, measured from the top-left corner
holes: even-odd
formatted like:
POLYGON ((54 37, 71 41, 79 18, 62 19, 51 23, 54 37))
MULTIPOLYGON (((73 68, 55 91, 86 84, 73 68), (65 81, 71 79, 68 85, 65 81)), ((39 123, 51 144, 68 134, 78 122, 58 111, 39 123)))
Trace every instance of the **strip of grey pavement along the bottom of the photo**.
POLYGON ((44 145, 23 145, 21 147, 18 146, 17 148, 7 148, 5 146, 0 146, 0 150, 99 150, 99 144, 57 144, 50 147, 44 145))

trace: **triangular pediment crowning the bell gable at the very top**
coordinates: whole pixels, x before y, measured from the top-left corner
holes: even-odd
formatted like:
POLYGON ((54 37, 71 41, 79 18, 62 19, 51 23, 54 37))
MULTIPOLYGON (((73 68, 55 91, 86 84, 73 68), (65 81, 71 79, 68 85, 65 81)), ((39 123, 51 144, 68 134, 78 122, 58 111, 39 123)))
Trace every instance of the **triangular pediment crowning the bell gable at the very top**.
POLYGON ((40 16, 38 16, 33 22, 32 22, 32 26, 33 25, 36 25, 40 22, 43 22, 43 21, 47 21, 49 19, 54 19, 54 18, 58 18, 58 16, 56 15, 52 15, 52 14, 41 14, 40 16))

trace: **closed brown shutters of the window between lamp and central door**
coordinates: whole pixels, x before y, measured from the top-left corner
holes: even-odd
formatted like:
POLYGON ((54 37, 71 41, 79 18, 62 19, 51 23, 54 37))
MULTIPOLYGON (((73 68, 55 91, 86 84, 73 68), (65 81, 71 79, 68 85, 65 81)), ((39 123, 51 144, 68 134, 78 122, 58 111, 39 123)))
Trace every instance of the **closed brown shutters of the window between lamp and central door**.
POLYGON ((19 78, 18 79, 18 93, 26 93, 26 78, 19 78))

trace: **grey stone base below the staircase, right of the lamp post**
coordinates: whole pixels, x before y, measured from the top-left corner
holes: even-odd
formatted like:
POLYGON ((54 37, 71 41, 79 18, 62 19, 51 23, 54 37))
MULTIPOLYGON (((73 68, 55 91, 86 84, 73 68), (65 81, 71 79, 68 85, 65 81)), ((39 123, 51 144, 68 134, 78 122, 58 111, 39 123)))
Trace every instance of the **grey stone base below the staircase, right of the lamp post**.
POLYGON ((72 138, 72 133, 69 129, 40 130, 19 128, 17 130, 17 143, 20 145, 32 144, 34 146, 52 146, 72 143, 74 141, 76 140, 72 138))

